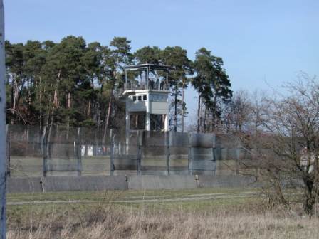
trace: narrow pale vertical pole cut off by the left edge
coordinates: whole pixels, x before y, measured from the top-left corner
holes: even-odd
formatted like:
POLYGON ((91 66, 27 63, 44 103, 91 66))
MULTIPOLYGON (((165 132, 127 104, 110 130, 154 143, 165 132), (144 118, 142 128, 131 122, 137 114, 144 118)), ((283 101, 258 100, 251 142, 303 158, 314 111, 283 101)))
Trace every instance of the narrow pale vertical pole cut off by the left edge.
POLYGON ((0 238, 6 238, 6 77, 4 63, 4 1, 0 0, 0 238))

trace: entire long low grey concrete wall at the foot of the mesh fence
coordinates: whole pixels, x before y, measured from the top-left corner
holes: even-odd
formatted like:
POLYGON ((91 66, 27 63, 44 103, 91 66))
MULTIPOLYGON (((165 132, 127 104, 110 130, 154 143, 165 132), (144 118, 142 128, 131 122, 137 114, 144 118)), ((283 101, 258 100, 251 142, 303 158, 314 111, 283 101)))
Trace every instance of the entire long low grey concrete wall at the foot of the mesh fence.
POLYGON ((8 179, 9 193, 254 187, 244 176, 48 176, 8 179))

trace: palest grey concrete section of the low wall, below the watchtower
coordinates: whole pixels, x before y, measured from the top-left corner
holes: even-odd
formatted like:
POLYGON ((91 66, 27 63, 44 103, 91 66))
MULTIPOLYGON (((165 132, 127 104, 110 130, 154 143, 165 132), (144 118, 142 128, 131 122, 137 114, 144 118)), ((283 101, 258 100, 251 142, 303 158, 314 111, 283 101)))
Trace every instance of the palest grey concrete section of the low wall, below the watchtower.
POLYGON ((183 189, 197 188, 194 176, 128 176, 129 189, 183 189))

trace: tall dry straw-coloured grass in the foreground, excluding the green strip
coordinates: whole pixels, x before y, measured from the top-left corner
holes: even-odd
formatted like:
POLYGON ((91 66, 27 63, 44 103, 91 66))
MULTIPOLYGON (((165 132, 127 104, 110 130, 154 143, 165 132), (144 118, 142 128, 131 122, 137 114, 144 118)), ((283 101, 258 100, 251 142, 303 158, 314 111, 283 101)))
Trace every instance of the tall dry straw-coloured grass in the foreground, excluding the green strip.
POLYGON ((174 210, 100 204, 80 213, 53 210, 9 224, 9 239, 25 238, 318 238, 318 218, 293 216, 262 203, 174 210), (32 224, 32 228, 31 228, 32 224))

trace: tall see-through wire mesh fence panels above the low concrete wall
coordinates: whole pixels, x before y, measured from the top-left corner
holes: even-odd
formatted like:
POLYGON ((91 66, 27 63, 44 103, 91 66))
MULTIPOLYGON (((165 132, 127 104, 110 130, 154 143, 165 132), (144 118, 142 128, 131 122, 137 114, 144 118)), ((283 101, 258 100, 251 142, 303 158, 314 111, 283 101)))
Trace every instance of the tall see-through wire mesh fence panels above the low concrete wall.
POLYGON ((229 175, 248 158, 225 135, 7 126, 9 176, 229 175))

